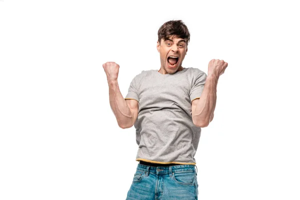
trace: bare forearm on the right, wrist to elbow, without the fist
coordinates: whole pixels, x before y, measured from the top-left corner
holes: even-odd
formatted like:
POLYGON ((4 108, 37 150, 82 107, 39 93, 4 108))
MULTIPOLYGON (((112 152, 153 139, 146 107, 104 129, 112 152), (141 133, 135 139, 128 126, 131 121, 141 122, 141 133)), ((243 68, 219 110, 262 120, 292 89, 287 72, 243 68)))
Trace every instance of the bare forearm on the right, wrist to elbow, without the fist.
POLYGON ((193 115, 195 124, 206 127, 213 117, 216 104, 216 85, 218 78, 215 75, 208 75, 205 85, 199 98, 193 115))

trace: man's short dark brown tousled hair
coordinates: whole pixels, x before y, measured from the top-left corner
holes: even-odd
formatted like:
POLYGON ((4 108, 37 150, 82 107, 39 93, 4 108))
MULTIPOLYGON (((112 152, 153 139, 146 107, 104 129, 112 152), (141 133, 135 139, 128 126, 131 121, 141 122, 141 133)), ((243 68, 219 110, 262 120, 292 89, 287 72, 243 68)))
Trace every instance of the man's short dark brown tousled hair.
POLYGON ((182 20, 170 20, 163 23, 158 29, 158 42, 161 39, 169 39, 170 36, 176 35, 182 39, 185 39, 186 44, 189 42, 189 31, 182 20))

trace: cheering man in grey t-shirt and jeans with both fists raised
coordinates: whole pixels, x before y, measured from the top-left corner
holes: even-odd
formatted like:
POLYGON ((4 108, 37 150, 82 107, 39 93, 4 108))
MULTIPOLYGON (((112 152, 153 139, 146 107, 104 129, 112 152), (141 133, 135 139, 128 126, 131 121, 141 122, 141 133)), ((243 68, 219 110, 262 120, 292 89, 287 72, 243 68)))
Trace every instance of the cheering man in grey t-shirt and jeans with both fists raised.
POLYGON ((109 102, 121 128, 134 125, 139 161, 126 199, 197 199, 194 155, 201 127, 213 118, 216 85, 227 63, 212 59, 207 75, 185 68, 189 31, 181 20, 158 30, 159 70, 143 70, 123 98, 118 88, 119 65, 103 64, 109 102))

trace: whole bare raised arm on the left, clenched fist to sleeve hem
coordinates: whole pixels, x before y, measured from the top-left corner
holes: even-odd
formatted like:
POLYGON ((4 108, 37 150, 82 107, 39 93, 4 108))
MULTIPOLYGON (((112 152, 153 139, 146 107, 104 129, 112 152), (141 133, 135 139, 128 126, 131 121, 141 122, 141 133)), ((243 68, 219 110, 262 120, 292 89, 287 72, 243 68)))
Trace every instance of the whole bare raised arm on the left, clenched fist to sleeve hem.
POLYGON ((117 82, 119 65, 115 62, 106 62, 102 66, 107 76, 110 107, 117 124, 121 128, 129 128, 137 118, 138 102, 123 98, 117 82))

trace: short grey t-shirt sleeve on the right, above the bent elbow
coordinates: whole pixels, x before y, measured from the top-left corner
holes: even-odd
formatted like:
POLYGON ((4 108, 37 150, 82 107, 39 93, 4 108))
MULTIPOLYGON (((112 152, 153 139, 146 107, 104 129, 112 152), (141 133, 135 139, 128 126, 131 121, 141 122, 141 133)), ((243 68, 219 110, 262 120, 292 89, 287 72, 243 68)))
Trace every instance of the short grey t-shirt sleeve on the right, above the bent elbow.
POLYGON ((201 72, 192 81, 191 89, 190 89, 190 92, 189 92, 190 102, 192 100, 196 99, 196 98, 200 98, 201 93, 202 93, 203 88, 204 88, 206 77, 207 77, 206 73, 201 72))

